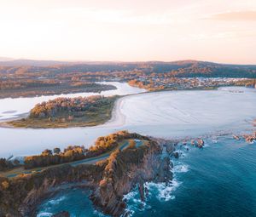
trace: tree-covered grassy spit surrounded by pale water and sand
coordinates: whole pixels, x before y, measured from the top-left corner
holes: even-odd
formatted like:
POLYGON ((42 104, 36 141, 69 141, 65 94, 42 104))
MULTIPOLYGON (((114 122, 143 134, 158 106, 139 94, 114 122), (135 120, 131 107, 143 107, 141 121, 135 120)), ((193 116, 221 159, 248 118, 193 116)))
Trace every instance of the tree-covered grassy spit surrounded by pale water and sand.
POLYGON ((111 118, 118 96, 56 98, 36 105, 27 118, 8 122, 18 128, 85 127, 105 123, 111 118))

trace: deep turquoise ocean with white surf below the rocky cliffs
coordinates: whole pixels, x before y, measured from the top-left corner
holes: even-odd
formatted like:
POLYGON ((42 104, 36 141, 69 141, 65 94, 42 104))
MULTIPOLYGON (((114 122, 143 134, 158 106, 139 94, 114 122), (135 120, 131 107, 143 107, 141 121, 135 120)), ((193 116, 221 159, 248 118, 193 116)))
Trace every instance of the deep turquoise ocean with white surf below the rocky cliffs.
MULTIPOLYGON (((178 150, 182 157, 172 159, 170 186, 147 184, 146 203, 137 191, 125 196, 132 216, 256 216, 256 143, 224 136, 207 139, 203 149, 178 150)), ((42 204, 40 212, 62 208, 72 216, 102 215, 94 211, 88 195, 81 190, 61 193, 42 204), (58 205, 49 205, 64 196, 58 205)))

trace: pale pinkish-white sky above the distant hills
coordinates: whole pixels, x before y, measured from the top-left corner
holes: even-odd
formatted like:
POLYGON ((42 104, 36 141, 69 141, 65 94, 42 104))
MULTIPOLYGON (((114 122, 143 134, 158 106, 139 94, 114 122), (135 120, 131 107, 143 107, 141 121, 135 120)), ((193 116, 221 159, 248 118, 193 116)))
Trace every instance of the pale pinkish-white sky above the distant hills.
POLYGON ((0 0, 0 57, 256 64, 255 0, 0 0))

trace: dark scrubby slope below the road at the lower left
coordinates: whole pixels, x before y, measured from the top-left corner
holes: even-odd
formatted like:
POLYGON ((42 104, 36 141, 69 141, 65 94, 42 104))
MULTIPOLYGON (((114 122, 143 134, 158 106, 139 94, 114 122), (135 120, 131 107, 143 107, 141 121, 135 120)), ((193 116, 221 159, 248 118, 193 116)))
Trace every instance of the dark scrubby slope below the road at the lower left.
POLYGON ((36 216, 37 205, 54 192, 52 186, 81 183, 88 180, 96 185, 102 177, 104 164, 83 164, 77 167, 61 165, 40 173, 23 174, 8 179, 0 176, 0 216, 36 216))

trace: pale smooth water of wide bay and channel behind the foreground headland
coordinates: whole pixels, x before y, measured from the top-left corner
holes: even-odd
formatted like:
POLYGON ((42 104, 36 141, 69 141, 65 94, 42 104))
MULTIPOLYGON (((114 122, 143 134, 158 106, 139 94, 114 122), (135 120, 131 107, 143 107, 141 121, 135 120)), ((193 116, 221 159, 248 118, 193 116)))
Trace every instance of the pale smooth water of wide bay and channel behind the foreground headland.
MULTIPOLYGON (((129 88, 130 93, 137 91, 129 88)), ((101 126, 0 128, 0 157, 31 155, 55 146, 91 146, 98 136, 120 129, 164 138, 240 131, 251 127, 249 121, 256 117, 255 108, 256 89, 227 88, 131 95, 119 100, 115 118, 101 126)))

